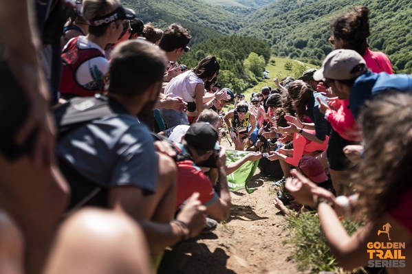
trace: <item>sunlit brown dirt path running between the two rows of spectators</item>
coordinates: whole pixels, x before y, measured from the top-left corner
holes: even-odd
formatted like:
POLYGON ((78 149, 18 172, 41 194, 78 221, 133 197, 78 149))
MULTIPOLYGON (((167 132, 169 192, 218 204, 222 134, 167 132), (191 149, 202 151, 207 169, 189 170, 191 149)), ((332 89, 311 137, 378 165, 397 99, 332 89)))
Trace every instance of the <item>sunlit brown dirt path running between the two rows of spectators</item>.
POLYGON ((166 251, 159 273, 300 273, 290 246, 283 242, 285 217, 272 202, 273 187, 257 169, 249 182, 252 194, 232 193, 227 223, 215 231, 166 251))

